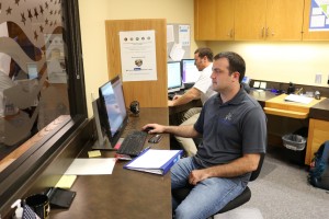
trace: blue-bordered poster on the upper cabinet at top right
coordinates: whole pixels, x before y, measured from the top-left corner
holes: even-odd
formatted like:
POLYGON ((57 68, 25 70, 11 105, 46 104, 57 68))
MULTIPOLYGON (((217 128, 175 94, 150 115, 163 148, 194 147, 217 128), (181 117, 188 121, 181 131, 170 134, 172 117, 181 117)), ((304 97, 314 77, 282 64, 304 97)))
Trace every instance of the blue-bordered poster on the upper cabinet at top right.
POLYGON ((329 31, 329 1, 311 0, 309 31, 329 31))

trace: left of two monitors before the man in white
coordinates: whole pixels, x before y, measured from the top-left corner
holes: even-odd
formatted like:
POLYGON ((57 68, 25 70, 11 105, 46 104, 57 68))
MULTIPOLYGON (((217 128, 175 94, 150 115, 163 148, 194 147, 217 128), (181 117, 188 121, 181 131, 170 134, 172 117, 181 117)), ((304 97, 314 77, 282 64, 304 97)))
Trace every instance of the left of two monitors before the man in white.
POLYGON ((181 90, 182 76, 181 76, 181 62, 168 61, 167 62, 167 76, 168 76, 168 93, 172 93, 181 90))

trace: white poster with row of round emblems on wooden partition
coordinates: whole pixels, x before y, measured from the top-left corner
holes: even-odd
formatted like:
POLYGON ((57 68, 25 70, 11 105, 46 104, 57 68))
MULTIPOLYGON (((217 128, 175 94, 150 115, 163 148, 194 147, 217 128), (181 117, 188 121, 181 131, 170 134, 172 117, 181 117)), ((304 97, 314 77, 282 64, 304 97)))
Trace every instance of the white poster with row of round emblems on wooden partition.
POLYGON ((155 31, 120 32, 123 81, 156 81, 155 31))

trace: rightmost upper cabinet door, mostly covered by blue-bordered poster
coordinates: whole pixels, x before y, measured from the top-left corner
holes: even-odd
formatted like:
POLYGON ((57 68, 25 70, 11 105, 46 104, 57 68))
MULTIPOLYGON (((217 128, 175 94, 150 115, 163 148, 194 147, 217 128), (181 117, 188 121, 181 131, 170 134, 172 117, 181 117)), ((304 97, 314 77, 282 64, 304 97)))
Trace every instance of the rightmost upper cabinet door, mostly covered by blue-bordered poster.
POLYGON ((329 41, 329 31, 308 31, 310 21, 310 1, 305 0, 303 41, 329 41))

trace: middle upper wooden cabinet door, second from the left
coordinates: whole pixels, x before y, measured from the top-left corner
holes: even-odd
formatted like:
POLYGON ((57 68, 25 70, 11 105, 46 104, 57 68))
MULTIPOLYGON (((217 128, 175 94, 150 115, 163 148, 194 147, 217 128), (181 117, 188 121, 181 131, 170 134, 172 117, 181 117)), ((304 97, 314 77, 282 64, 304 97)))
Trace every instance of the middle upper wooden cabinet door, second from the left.
POLYGON ((265 37, 265 0, 236 0, 235 39, 259 41, 265 37))

